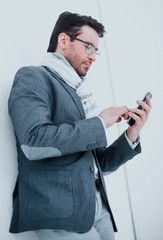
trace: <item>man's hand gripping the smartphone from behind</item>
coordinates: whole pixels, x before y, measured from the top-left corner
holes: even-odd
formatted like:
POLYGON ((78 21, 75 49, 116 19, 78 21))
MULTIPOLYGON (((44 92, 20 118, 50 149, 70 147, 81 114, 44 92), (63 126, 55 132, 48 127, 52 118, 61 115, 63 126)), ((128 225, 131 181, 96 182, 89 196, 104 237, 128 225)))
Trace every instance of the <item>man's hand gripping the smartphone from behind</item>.
POLYGON ((137 103, 144 110, 134 108, 129 109, 128 113, 129 117, 132 117, 135 120, 135 124, 129 126, 127 129, 127 136, 133 143, 137 140, 141 129, 148 120, 148 116, 152 107, 149 96, 146 97, 146 103, 143 101, 137 101, 137 103))

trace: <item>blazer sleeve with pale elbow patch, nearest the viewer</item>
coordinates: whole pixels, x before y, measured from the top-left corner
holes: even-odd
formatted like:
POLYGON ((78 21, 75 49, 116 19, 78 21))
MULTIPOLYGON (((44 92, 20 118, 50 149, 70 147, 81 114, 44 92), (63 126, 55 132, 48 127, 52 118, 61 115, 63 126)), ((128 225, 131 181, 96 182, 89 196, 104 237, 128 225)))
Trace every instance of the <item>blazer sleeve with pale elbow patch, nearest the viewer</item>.
POLYGON ((35 69, 24 67, 17 72, 8 101, 16 138, 25 156, 40 160, 106 146, 98 117, 53 124, 50 87, 35 69))

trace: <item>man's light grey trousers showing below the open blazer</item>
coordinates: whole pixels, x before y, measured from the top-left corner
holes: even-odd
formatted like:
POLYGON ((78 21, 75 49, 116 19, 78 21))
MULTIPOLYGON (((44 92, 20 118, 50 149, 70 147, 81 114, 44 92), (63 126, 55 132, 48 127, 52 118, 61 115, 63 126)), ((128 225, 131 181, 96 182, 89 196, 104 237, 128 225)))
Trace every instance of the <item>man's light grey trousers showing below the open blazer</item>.
POLYGON ((86 233, 58 229, 35 231, 40 240, 115 240, 110 214, 96 188, 96 214, 92 228, 86 233))

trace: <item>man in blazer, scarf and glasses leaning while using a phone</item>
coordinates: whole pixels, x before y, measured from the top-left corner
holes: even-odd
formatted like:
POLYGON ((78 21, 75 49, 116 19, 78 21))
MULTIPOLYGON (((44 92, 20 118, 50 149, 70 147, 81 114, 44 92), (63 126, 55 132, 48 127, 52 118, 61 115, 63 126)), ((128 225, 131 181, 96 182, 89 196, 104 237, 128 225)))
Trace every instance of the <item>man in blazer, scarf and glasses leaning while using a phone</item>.
POLYGON ((103 174, 141 152, 144 111, 109 107, 96 114, 84 76, 105 30, 95 19, 62 13, 42 66, 23 67, 9 97, 18 150, 10 232, 35 230, 39 239, 113 240, 116 224, 103 174), (136 123, 109 147, 105 129, 131 116, 136 123))

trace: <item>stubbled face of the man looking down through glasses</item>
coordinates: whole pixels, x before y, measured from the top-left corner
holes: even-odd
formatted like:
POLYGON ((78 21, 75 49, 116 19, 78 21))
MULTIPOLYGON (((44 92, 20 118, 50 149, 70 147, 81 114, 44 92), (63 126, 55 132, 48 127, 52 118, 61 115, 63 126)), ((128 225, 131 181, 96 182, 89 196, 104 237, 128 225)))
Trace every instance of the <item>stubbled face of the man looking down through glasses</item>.
MULTIPOLYGON (((89 27, 83 26, 81 28, 81 34, 77 38, 92 44, 95 48, 98 48, 98 34, 89 27)), ((78 40, 69 39, 64 57, 68 60, 71 66, 76 70, 79 76, 85 76, 89 70, 93 61, 96 60, 95 51, 92 54, 88 54, 86 47, 88 44, 80 42, 78 40)))

